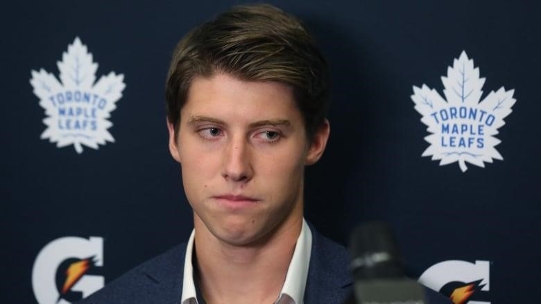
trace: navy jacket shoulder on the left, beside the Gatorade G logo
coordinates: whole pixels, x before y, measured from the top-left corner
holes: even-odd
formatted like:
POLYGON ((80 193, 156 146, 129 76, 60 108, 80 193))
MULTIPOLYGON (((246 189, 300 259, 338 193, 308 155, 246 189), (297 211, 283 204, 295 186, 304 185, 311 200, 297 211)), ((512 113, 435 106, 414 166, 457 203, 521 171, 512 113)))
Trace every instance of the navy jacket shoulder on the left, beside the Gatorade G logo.
POLYGON ((131 269, 78 303, 176 303, 182 292, 186 244, 131 269))

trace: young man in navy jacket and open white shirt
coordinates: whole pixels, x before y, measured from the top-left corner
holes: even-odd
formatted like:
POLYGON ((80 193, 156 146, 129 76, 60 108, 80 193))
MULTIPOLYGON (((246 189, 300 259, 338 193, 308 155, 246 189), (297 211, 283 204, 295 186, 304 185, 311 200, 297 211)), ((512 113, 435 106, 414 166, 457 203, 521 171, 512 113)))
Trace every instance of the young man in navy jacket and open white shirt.
POLYGON ((304 166, 329 137, 327 67, 304 27, 232 8, 180 41, 166 100, 194 231, 83 303, 343 303, 347 253, 303 218, 304 166))

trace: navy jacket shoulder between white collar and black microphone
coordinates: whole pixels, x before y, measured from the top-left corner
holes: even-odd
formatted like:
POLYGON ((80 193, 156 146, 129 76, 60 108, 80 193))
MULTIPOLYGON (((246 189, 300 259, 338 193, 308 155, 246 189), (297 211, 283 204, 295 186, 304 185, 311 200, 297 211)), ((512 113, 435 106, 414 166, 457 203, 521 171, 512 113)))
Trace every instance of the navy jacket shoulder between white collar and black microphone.
POLYGON ((344 303, 352 292, 352 277, 347 269, 350 256, 341 245, 310 226, 312 249, 305 303, 344 303))

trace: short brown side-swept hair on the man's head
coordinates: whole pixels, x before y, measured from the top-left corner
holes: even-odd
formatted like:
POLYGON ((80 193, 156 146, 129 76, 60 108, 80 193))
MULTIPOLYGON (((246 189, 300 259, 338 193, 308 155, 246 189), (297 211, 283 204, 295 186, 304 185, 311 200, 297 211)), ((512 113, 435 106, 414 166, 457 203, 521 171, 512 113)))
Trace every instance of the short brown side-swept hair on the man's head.
POLYGON ((175 134, 191 81, 217 71, 291 85, 309 138, 325 120, 325 60, 300 22, 274 6, 235 6, 180 40, 166 81, 167 118, 175 134))

